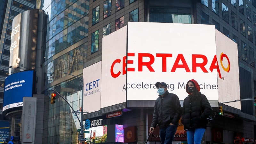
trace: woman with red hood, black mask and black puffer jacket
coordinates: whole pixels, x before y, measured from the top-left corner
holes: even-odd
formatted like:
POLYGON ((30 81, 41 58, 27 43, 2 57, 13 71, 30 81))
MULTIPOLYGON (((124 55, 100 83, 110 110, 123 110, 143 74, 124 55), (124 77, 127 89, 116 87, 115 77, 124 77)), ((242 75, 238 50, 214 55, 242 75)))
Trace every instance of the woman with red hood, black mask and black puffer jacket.
POLYGON ((188 97, 183 101, 182 124, 187 131, 188 144, 201 144, 211 105, 206 96, 201 94, 199 84, 189 80, 186 85, 188 97))

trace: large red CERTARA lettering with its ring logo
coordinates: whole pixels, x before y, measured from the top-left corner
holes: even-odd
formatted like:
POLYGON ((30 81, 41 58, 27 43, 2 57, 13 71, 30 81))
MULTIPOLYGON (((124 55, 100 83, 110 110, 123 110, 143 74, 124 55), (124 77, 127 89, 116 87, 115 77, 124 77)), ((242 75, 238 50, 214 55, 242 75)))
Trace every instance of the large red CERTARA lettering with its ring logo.
MULTIPOLYGON (((128 57, 134 57, 135 53, 128 53, 127 56, 128 57)), ((156 57, 162 58, 162 72, 166 72, 167 58, 172 58, 172 53, 156 53, 156 57)), ((193 73, 197 72, 196 71, 197 67, 201 68, 201 70, 204 73, 208 73, 207 69, 205 68, 205 66, 208 63, 208 59, 205 55, 203 55, 203 54, 192 54, 191 57, 192 57, 192 72, 193 73), (198 63, 196 61, 196 59, 202 59, 203 62, 198 63)), ((113 61, 112 65, 111 65, 111 68, 110 68, 110 74, 113 78, 116 78, 116 77, 121 75, 121 71, 114 72, 114 66, 117 63, 120 64, 122 62, 122 65, 123 65, 122 74, 123 75, 126 74, 126 59, 127 59, 127 57, 124 56, 122 58, 122 60, 121 59, 116 59, 116 60, 113 61)), ((143 66, 146 66, 150 72, 155 72, 154 68, 151 66, 154 62, 155 62, 155 57, 154 57, 153 54, 151 54, 151 53, 138 53, 138 71, 139 72, 142 72, 145 69, 145 68, 144 69, 142 68, 143 66), (150 60, 148 62, 144 62, 143 57, 148 57, 150 60)), ((127 60, 127 63, 128 64, 133 64, 133 60, 127 60)), ((226 72, 230 71, 230 61, 228 59, 228 56, 226 54, 224 54, 223 52, 220 54, 220 64, 221 64, 221 67, 223 68, 224 71, 226 71, 226 72), (227 68, 225 68, 224 65, 223 65, 223 59, 224 58, 226 58, 228 60, 228 67, 227 68)), ((187 63, 186 59, 184 58, 183 54, 178 54, 177 55, 177 58, 176 58, 173 66, 172 66, 171 72, 175 72, 177 68, 184 68, 186 70, 186 72, 191 72, 191 70, 188 67, 188 63, 187 63), (179 64, 180 61, 181 61, 182 64, 179 64)), ((221 74, 220 74, 220 68, 219 68, 219 64, 218 64, 216 55, 213 56, 212 63, 211 63, 211 66, 210 66, 209 70, 212 72, 213 69, 217 69, 217 72, 219 73, 219 77, 222 78, 221 74)), ((131 72, 135 71, 135 68, 127 68, 127 71, 131 71, 131 72)), ((222 79, 224 80, 224 77, 222 79)))

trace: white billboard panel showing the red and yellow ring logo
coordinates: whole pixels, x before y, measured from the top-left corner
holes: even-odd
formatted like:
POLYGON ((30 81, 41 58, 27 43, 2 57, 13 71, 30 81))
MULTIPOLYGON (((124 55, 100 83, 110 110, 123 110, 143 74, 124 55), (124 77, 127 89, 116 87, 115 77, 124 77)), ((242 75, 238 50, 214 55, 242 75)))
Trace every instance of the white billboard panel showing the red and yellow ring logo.
MULTIPOLYGON (((239 68, 237 44, 215 29, 216 59, 218 60, 219 102, 240 99, 239 68)), ((241 103, 231 102, 225 105, 241 109, 241 103)))

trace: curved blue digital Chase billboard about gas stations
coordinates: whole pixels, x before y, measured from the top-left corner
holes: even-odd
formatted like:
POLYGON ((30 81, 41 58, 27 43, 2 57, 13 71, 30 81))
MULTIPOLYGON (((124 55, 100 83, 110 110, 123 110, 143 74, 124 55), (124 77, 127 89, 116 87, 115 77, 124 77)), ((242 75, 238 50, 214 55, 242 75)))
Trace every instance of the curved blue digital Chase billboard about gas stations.
POLYGON ((36 71, 21 71, 5 78, 3 112, 9 108, 21 107, 23 97, 32 97, 36 71))

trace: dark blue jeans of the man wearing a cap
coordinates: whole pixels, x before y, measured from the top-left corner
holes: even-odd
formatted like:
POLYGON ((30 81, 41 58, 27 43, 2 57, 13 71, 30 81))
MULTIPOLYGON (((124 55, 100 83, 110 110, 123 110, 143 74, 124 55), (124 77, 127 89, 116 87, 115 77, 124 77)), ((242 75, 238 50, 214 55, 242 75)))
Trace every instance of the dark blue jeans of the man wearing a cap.
POLYGON ((171 144, 174 139, 176 130, 176 125, 169 125, 165 128, 160 129, 159 135, 161 139, 161 144, 171 144))

